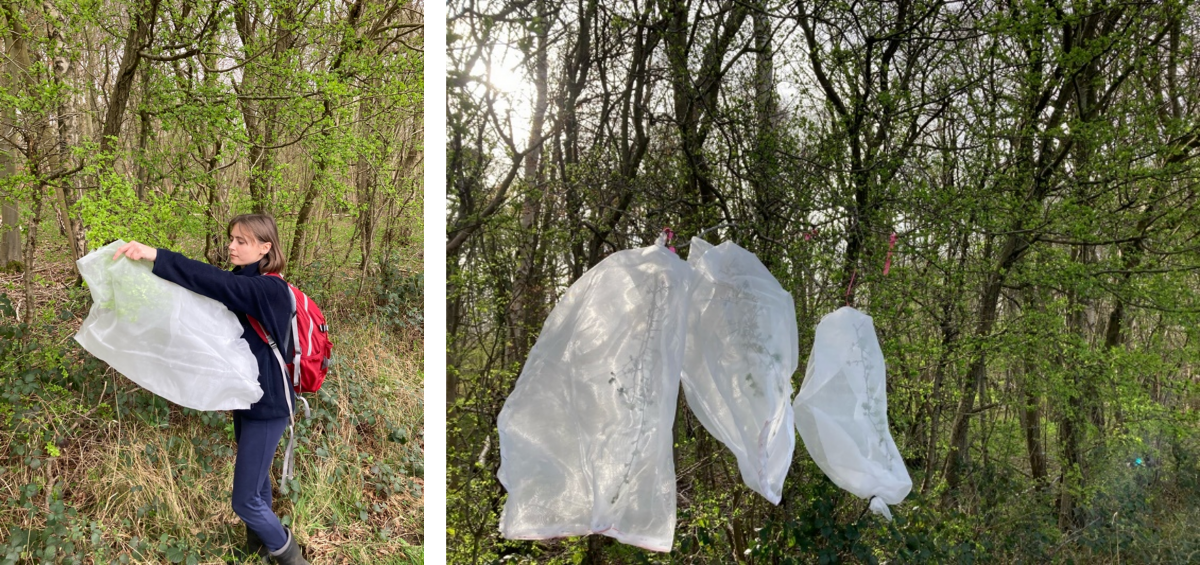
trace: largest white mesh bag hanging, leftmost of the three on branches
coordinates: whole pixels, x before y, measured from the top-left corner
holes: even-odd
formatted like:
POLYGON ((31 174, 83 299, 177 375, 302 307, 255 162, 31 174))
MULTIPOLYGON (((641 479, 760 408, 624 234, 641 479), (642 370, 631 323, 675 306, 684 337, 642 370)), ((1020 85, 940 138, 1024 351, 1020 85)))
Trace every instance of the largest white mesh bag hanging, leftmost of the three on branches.
POLYGON ((500 534, 674 539, 672 425, 691 269, 659 244, 613 253, 550 313, 500 410, 500 534))

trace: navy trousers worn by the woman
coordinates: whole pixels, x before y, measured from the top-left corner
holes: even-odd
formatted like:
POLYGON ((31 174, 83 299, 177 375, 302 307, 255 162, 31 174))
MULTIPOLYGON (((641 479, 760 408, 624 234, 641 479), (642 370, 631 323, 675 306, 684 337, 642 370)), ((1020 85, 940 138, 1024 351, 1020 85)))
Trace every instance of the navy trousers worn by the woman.
POLYGON ((270 551, 288 542, 278 516, 271 510, 271 462, 288 427, 288 419, 250 420, 233 413, 238 458, 233 468, 233 511, 258 534, 270 551))

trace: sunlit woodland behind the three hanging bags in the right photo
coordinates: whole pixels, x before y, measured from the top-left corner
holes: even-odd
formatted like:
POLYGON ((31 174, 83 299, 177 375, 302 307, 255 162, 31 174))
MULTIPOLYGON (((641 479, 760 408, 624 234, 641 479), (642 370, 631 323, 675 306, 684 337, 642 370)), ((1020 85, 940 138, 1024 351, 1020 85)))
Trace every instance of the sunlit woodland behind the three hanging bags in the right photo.
POLYGON ((446 19, 451 563, 1200 559, 1195 2, 452 0, 446 19), (874 317, 914 482, 895 522, 799 441, 769 505, 680 405, 672 553, 499 537, 496 419, 541 323, 664 227, 756 253, 802 359, 823 314, 874 317))

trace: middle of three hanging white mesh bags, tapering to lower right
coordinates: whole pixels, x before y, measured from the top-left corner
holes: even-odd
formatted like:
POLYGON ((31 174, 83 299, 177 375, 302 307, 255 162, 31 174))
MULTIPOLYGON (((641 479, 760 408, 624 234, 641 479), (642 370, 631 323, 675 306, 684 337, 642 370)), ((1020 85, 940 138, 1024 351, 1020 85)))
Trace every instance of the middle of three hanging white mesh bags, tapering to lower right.
POLYGON ((692 238, 696 270, 683 390, 696 419, 737 456, 742 480, 779 504, 792 462, 792 295, 749 251, 692 238))

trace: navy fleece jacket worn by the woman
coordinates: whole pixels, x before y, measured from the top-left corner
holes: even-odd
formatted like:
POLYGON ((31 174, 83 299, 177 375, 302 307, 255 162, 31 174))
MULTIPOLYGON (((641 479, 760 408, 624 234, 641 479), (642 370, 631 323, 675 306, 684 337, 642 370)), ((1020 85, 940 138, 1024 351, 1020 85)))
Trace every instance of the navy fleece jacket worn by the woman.
POLYGON ((275 353, 246 315, 257 319, 272 337, 280 342, 283 359, 292 359, 292 299, 288 284, 277 277, 263 276, 258 272, 258 263, 222 271, 208 263, 188 259, 174 251, 158 250, 154 262, 154 274, 184 287, 202 296, 208 296, 226 305, 241 323, 241 338, 250 343, 250 351, 258 360, 258 384, 263 387, 263 397, 250 405, 248 410, 234 410, 241 417, 251 420, 271 420, 287 417, 288 402, 295 405, 290 386, 283 386, 283 375, 275 353), (283 338, 280 339, 280 336, 283 338), (283 395, 289 395, 290 398, 283 395))

